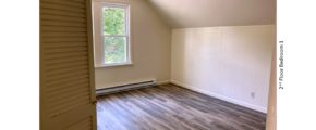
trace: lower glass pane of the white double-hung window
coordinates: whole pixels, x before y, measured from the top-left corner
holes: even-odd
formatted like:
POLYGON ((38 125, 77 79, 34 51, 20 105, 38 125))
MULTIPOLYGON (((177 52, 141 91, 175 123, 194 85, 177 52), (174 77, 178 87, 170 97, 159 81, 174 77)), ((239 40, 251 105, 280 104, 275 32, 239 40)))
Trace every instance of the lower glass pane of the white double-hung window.
POLYGON ((126 37, 105 37, 105 64, 125 63, 126 37))

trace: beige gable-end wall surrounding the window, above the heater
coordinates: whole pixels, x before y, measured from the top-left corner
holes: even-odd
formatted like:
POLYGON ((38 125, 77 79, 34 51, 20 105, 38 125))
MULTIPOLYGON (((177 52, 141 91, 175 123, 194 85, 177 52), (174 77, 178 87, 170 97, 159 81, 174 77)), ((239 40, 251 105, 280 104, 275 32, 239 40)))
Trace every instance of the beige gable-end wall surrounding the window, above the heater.
MULTIPOLYGON (((109 1, 109 0, 98 0, 109 1)), ((171 28, 147 0, 110 0, 131 3, 133 65, 96 68, 96 88, 157 79, 170 79, 171 28)))

